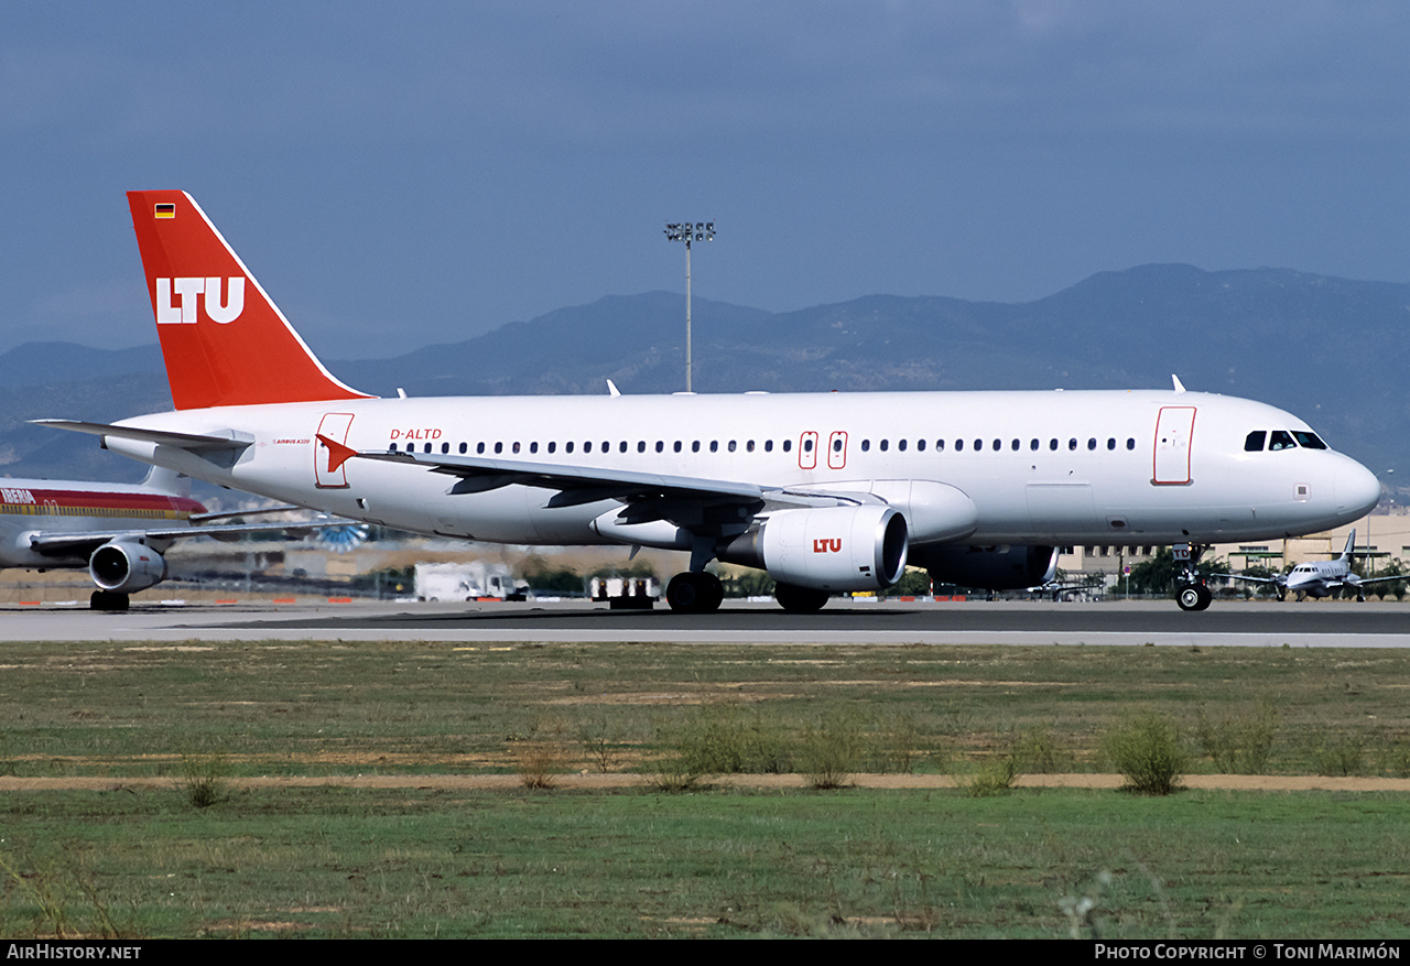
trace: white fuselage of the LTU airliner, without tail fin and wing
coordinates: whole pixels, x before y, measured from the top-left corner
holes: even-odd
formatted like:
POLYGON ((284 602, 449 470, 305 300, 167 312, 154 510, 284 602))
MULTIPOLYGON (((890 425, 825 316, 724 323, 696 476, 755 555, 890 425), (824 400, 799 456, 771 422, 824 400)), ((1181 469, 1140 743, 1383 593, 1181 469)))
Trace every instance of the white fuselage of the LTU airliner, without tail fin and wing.
POLYGON ((977 509, 973 532, 956 537, 970 544, 1275 539, 1347 523, 1379 498, 1375 477, 1340 453, 1245 451, 1253 430, 1308 429, 1296 416, 1197 392, 357 399, 188 409, 121 426, 250 440, 231 461, 107 439, 114 451, 219 485, 516 544, 609 543, 592 522, 620 503, 547 508, 553 491, 525 485, 453 495, 454 477, 374 460, 330 471, 316 436, 358 451, 415 447, 766 487, 939 481, 977 509))

